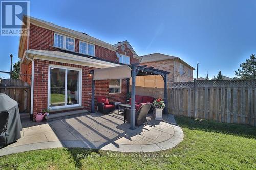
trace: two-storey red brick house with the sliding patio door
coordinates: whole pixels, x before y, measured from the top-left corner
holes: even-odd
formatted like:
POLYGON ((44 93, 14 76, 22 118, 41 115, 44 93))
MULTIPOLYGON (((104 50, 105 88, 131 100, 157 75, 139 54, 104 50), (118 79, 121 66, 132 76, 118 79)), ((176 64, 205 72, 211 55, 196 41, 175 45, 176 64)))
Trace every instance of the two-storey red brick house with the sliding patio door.
MULTIPOLYGON (((138 63, 127 41, 111 45, 85 33, 30 18, 30 36, 20 36, 22 80, 31 85, 31 113, 45 108, 91 110, 92 76, 97 68, 138 63), (119 55, 121 54, 121 56, 119 55)), ((126 79, 96 81, 95 97, 125 102, 126 79)), ((96 106, 96 105, 95 105, 96 106)))

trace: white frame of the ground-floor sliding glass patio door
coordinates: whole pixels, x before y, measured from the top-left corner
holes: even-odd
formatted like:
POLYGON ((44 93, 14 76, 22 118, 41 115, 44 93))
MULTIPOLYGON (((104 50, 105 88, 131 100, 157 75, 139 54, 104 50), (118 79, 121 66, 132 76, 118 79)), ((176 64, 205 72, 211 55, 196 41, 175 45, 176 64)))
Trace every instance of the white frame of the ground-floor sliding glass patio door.
POLYGON ((74 68, 74 67, 67 67, 67 66, 60 66, 60 65, 49 65, 48 68, 48 92, 47 92, 47 108, 51 108, 51 110, 55 109, 62 109, 62 108, 72 108, 82 106, 82 69, 74 68), (50 107, 50 83, 51 83, 51 68, 59 68, 65 69, 65 105, 64 106, 52 106, 50 107), (79 103, 73 105, 67 105, 67 83, 68 83, 68 70, 79 71, 79 103))

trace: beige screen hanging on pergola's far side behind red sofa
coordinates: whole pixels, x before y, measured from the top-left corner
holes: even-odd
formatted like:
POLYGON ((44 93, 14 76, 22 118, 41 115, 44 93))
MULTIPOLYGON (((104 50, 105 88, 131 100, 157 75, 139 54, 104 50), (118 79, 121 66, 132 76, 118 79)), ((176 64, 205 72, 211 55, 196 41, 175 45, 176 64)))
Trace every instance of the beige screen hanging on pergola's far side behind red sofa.
MULTIPOLYGON (((130 91, 131 83, 130 80, 130 91)), ((152 96, 154 98, 164 95, 164 81, 161 75, 136 76, 136 95, 152 96)))

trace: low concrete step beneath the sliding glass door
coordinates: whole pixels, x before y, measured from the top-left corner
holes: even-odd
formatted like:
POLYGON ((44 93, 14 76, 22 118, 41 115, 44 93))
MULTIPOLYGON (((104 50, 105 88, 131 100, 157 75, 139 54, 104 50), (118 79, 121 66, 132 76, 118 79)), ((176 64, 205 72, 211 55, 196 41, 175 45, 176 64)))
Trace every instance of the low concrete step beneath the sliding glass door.
POLYGON ((49 116, 45 116, 45 119, 47 122, 53 121, 53 120, 58 120, 62 118, 70 118, 78 115, 84 115, 89 113, 87 110, 75 110, 75 111, 68 111, 68 112, 62 112, 62 113, 50 113, 49 116))

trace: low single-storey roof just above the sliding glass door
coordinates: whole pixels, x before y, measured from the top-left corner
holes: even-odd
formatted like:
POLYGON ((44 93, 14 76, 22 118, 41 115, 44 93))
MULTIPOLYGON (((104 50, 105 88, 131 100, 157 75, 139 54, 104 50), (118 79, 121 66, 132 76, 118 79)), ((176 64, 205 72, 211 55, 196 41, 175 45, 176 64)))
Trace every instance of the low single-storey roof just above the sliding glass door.
MULTIPOLYGON (((88 55, 68 51, 26 50, 25 53, 31 58, 33 57, 34 59, 38 58, 41 60, 84 65, 95 68, 108 68, 123 65, 118 62, 108 61, 97 57, 91 57, 88 55)), ((24 60, 26 60, 25 57, 23 57, 22 63, 29 62, 24 60)))

